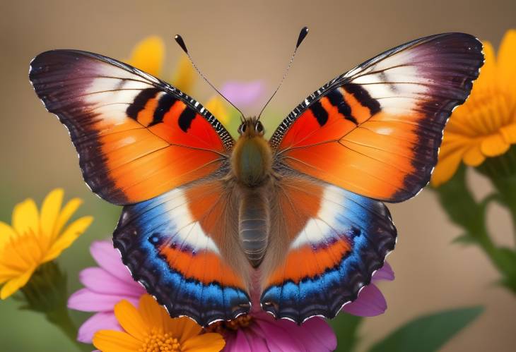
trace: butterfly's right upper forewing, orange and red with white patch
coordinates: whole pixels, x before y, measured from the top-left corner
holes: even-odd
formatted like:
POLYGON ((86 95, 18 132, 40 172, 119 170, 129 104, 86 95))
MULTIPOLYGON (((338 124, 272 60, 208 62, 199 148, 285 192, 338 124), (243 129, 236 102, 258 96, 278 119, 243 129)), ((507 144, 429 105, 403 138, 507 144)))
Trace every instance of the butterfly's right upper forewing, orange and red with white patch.
POLYGON ((416 195, 437 162, 442 129, 468 97, 481 42, 448 33, 386 51, 314 92, 271 137, 303 174, 388 202, 416 195))

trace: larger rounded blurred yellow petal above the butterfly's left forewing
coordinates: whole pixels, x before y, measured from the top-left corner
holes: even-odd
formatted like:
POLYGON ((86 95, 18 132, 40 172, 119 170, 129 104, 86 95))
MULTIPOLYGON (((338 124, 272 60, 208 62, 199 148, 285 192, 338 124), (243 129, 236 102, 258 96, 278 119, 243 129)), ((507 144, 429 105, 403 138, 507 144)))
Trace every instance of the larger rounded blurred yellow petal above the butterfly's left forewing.
POLYGON ((165 59, 165 44, 160 37, 151 36, 141 40, 134 47, 127 61, 141 71, 159 76, 165 59))

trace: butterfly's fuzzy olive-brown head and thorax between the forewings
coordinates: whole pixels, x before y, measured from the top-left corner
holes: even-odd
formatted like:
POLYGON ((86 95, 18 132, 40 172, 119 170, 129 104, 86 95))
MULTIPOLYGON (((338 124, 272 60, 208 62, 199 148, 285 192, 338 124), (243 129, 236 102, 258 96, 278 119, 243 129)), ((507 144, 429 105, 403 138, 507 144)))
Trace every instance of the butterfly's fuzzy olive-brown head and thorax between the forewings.
POLYGON ((256 118, 245 119, 238 132, 240 138, 231 156, 233 174, 243 186, 260 186, 272 172, 272 150, 264 138, 263 125, 256 118))

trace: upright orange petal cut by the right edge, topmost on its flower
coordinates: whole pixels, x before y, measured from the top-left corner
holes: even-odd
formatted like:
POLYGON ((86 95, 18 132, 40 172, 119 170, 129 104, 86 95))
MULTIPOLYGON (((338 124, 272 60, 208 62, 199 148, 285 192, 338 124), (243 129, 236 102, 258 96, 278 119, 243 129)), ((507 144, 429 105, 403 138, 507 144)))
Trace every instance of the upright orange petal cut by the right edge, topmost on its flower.
POLYGON ((516 90, 516 30, 505 32, 500 44, 498 78, 502 89, 514 95, 516 90))

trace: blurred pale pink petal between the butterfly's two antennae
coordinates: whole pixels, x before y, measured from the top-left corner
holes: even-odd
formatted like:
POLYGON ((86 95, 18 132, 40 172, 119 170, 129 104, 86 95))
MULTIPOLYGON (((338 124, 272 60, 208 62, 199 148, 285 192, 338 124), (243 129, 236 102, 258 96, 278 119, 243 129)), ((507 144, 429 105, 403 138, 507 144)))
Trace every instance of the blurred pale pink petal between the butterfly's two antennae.
POLYGON ((260 102, 264 95, 265 85, 262 80, 251 82, 228 81, 221 89, 222 94, 240 109, 250 107, 260 102))

